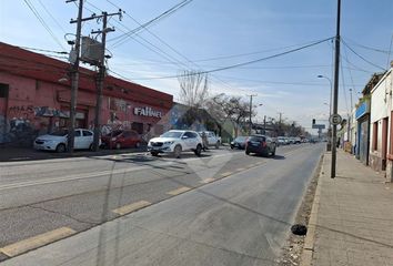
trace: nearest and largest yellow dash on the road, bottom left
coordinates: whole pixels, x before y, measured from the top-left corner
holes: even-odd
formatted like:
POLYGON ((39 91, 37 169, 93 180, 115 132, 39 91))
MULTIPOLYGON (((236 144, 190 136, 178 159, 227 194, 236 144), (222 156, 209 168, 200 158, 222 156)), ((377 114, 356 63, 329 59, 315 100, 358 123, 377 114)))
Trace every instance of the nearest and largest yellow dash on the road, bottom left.
POLYGON ((59 241, 61 238, 64 238, 67 236, 73 235, 77 232, 69 228, 69 227, 60 227, 54 231, 50 231, 17 243, 13 243, 11 245, 4 246, 0 248, 0 252, 6 254, 9 257, 14 257, 17 255, 20 255, 22 253, 26 253, 28 250, 38 248, 40 246, 47 245, 49 243, 59 241))

